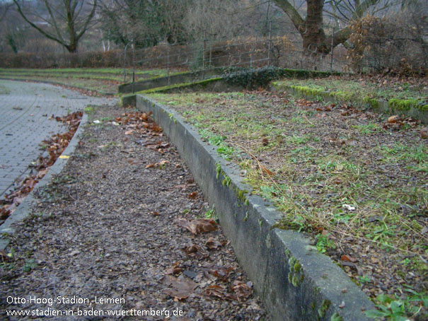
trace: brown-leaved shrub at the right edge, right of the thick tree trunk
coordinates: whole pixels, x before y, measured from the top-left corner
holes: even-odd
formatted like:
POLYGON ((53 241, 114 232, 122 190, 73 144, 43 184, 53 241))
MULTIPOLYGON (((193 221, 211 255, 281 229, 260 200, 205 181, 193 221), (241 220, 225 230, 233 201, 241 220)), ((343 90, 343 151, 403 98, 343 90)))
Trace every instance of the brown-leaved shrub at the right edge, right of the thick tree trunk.
POLYGON ((366 16, 352 24, 349 59, 352 69, 423 74, 428 68, 428 4, 383 18, 366 16), (425 8, 425 10, 423 10, 425 8))

